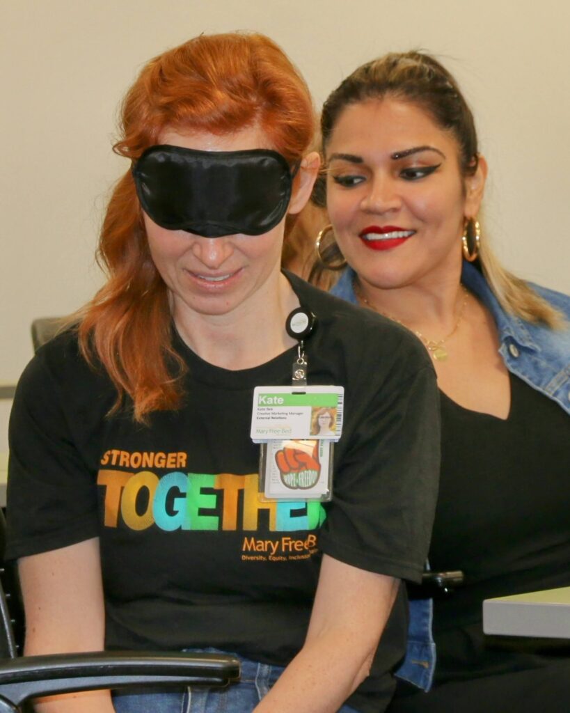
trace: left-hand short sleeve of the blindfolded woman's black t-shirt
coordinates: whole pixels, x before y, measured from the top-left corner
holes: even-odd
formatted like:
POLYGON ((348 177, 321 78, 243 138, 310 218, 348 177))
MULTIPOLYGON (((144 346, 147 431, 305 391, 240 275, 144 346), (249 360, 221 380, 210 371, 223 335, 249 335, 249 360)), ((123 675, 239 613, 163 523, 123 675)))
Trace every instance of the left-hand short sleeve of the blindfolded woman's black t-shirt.
POLYGON ((6 558, 98 534, 95 474, 78 448, 78 424, 72 424, 65 396, 36 355, 21 376, 10 417, 6 558))

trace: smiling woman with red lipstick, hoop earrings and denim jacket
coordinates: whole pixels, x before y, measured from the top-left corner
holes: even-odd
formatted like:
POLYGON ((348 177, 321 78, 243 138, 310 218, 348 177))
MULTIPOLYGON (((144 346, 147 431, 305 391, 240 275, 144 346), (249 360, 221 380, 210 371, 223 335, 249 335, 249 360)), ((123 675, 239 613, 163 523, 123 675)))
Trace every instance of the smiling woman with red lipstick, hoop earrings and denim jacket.
MULTIPOLYGON (((488 597, 570 585, 570 299, 514 277, 481 235, 487 163, 450 73, 420 52, 348 76, 322 113, 323 262, 333 294, 410 330, 440 388, 433 570, 447 598, 412 602, 394 712, 559 712, 570 647, 486 637, 488 597), (344 267, 348 263, 348 267, 344 267)), ((317 267, 322 270, 323 266, 317 267)))

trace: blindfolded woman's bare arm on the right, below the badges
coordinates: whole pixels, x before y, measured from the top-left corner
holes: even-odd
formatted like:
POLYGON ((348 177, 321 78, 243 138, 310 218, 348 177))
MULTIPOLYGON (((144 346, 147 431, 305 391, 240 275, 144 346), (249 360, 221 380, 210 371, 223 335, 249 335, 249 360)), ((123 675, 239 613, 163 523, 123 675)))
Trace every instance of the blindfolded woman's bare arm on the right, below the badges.
POLYGON ((368 675, 399 580, 323 555, 304 647, 255 713, 334 713, 368 675))

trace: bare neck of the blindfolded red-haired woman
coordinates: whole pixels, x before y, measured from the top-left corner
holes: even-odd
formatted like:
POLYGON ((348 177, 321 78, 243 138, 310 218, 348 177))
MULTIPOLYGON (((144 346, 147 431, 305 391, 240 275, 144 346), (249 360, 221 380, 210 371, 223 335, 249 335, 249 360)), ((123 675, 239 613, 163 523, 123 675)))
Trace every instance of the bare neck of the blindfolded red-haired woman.
POLYGON ((252 369, 296 344, 285 330, 289 312, 299 300, 289 280, 278 273, 227 314, 200 314, 175 309, 173 317, 183 341, 201 359, 223 369, 252 369))

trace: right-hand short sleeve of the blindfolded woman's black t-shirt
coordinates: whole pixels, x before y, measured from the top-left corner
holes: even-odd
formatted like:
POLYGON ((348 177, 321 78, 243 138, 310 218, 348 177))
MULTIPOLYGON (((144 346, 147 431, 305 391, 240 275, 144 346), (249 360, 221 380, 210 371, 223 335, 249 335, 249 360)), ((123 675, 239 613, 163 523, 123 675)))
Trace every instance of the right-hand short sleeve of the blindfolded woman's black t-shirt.
POLYGON ((319 543, 358 568, 419 582, 437 499, 439 398, 421 344, 405 339, 400 346, 381 384, 373 364, 363 363, 357 393, 347 385, 348 428, 338 443, 333 501, 319 543))

